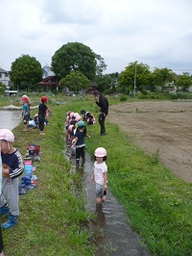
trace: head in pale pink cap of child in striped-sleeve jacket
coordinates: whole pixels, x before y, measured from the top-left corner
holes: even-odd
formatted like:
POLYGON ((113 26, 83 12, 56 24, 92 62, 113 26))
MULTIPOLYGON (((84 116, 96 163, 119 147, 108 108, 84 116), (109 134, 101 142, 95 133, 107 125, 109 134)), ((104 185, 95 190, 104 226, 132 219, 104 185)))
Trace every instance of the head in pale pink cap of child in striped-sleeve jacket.
POLYGON ((12 149, 12 142, 14 141, 14 135, 9 129, 0 129, 0 145, 1 151, 4 154, 8 154, 12 149))

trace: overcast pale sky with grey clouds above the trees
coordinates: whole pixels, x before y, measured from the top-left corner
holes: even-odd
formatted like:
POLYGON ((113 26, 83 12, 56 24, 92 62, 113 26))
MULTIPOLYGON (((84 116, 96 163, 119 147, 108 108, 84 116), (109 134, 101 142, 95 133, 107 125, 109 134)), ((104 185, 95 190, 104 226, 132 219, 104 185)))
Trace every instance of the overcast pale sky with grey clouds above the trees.
POLYGON ((192 0, 0 0, 0 67, 22 54, 43 66, 82 42, 121 72, 135 61, 192 73, 192 0))

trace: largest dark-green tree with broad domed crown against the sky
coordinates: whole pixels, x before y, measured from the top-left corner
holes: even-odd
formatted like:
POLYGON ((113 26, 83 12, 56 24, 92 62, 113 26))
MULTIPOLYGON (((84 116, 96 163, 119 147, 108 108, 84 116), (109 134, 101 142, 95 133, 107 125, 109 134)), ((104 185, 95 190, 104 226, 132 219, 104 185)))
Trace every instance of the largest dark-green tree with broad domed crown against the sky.
POLYGON ((104 59, 81 42, 63 44, 52 57, 52 70, 59 79, 71 71, 79 71, 94 81, 96 71, 102 72, 105 68, 104 59))

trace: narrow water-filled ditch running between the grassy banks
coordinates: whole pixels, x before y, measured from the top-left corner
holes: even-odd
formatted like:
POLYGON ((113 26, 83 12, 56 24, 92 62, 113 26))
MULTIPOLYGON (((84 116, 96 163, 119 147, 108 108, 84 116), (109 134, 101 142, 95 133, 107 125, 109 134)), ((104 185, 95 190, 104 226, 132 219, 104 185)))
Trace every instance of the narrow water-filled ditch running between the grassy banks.
POLYGON ((84 165, 76 166, 75 156, 69 156, 70 145, 70 141, 65 141, 64 156, 71 162, 70 172, 81 173, 80 180, 72 183, 72 188, 77 196, 79 193, 84 194, 85 210, 93 214, 93 218, 84 225, 92 233, 90 241, 97 248, 96 255, 151 255, 142 246, 142 240, 133 232, 123 206, 109 189, 107 201, 96 205, 95 183, 90 181, 93 172, 93 159, 85 152, 84 165))

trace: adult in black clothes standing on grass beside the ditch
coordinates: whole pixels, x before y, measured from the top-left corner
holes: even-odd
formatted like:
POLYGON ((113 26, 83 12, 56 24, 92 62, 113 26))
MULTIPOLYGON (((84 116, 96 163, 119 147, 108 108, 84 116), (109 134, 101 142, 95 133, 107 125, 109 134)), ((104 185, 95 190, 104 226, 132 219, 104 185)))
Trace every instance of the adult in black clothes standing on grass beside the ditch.
POLYGON ((101 136, 106 135, 105 119, 108 115, 108 99, 99 90, 93 92, 94 101, 100 107, 99 124, 101 126, 101 136))

